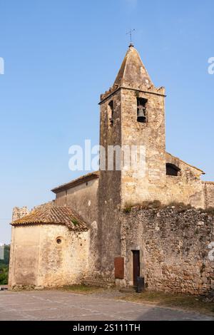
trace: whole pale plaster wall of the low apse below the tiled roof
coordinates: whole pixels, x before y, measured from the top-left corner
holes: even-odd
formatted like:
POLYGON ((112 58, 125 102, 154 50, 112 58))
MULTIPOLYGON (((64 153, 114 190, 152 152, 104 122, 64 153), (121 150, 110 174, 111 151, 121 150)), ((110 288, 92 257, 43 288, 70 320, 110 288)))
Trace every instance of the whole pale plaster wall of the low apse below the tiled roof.
POLYGON ((88 272, 88 232, 63 225, 13 227, 10 287, 77 284, 88 272), (57 244, 56 239, 61 239, 57 244))

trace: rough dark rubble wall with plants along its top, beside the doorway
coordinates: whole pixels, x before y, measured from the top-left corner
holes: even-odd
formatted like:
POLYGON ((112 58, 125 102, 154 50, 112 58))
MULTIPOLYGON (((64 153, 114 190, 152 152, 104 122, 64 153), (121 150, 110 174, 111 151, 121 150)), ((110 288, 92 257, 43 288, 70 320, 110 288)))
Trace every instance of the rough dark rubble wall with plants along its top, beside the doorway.
POLYGON ((205 294, 214 289, 214 216, 167 207, 122 215, 121 256, 133 284, 132 250, 140 250, 148 289, 205 294))

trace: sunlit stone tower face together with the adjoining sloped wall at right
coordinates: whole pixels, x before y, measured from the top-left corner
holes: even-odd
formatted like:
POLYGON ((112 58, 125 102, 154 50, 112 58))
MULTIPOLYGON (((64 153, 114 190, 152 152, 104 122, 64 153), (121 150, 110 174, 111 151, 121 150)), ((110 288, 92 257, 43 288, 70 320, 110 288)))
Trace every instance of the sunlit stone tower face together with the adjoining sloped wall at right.
MULTIPOLYGON (((154 92, 121 89, 121 144, 145 148, 144 165, 121 171, 121 202, 133 204, 160 200, 205 208, 203 171, 165 153, 164 96, 154 92), (148 99, 147 123, 137 122, 137 97, 148 99), (178 176, 166 175, 166 163, 180 168, 178 176)), ((139 154, 139 153, 138 153, 139 154)), ((214 192, 213 192, 214 194, 214 192)), ((213 202, 214 205, 214 202, 213 202)))

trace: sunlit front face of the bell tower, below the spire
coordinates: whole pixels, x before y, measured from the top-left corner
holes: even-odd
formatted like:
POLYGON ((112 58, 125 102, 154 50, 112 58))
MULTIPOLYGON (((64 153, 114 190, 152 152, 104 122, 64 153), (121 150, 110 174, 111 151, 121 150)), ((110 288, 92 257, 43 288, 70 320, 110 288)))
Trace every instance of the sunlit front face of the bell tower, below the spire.
POLYGON ((145 165, 122 170, 122 203, 145 200, 165 202, 165 97, 152 92, 121 90, 122 145, 145 148, 145 165), (147 122, 137 121, 137 98, 148 100, 147 122))

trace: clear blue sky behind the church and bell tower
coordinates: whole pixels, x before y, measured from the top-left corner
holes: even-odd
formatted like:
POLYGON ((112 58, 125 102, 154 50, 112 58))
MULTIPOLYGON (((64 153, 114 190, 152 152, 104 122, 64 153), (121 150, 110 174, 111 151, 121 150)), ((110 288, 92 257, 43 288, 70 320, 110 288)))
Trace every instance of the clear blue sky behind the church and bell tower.
POLYGON ((14 206, 54 198, 77 177, 68 148, 98 143, 98 100, 135 46, 165 86, 166 145, 214 180, 213 0, 1 0, 0 242, 14 206))

